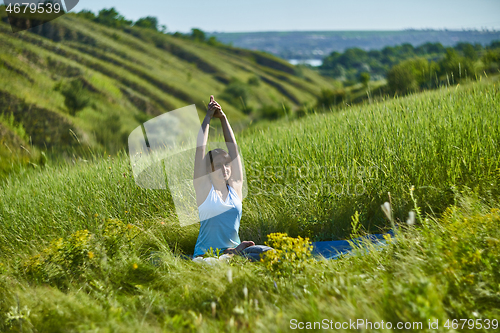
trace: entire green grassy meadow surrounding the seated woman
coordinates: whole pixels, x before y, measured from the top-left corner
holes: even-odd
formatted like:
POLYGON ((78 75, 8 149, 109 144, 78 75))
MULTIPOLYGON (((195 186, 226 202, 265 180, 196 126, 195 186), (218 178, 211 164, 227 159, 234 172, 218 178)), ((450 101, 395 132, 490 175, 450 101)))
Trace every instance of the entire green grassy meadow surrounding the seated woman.
POLYGON ((168 190, 135 184, 124 150, 21 168, 0 185, 0 330, 495 331, 499 90, 490 77, 238 133, 240 237, 288 246, 264 262, 183 259, 198 226, 179 225, 168 190), (305 238, 390 230, 386 201, 386 246, 311 260, 305 238))

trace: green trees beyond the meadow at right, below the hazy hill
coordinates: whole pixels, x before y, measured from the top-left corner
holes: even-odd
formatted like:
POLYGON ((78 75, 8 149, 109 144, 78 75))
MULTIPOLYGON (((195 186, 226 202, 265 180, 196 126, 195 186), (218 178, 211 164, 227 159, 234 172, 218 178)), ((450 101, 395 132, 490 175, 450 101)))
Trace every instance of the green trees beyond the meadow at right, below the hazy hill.
POLYGON ((371 79, 387 79, 391 93, 405 94, 441 85, 476 79, 482 73, 497 73, 500 41, 490 45, 458 43, 444 47, 440 43, 387 46, 382 50, 347 49, 332 52, 320 67, 322 74, 337 78, 345 86, 371 79))

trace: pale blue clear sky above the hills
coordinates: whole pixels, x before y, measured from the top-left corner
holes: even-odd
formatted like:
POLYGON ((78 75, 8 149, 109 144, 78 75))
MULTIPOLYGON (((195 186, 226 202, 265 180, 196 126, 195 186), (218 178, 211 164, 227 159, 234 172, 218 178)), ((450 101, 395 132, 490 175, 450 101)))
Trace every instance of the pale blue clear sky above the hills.
POLYGON ((127 19, 156 16, 167 30, 500 30, 500 0, 80 0, 73 11, 115 7, 127 19))

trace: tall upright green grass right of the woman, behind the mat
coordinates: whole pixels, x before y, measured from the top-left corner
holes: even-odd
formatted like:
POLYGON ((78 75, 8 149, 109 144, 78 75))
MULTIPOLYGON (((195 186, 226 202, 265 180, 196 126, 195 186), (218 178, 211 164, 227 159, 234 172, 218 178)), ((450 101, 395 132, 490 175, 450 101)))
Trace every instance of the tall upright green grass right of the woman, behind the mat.
POLYGON ((454 87, 262 126, 241 146, 244 156, 255 158, 253 191, 266 187, 272 194, 251 197, 248 213, 292 234, 331 238, 342 234, 355 210, 366 226, 380 225, 379 206, 388 192, 403 219, 411 186, 426 211, 442 211, 461 186, 497 195, 498 90, 495 84, 454 87), (310 172, 280 177, 293 166, 310 172), (314 194, 322 185, 324 191, 314 194))

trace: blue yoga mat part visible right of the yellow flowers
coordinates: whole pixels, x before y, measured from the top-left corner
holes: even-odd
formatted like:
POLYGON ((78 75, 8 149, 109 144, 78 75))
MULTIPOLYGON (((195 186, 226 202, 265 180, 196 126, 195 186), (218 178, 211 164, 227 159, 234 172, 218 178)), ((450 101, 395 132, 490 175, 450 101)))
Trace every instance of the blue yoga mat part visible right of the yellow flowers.
POLYGON ((325 241, 325 242, 313 242, 313 254, 321 255, 325 259, 338 259, 344 254, 348 254, 353 250, 352 243, 363 244, 364 241, 368 240, 376 247, 383 246, 386 244, 384 238, 385 235, 390 235, 394 237, 394 231, 389 231, 386 234, 372 234, 363 237, 358 237, 351 239, 350 241, 325 241), (349 244, 349 242, 352 242, 349 244))

